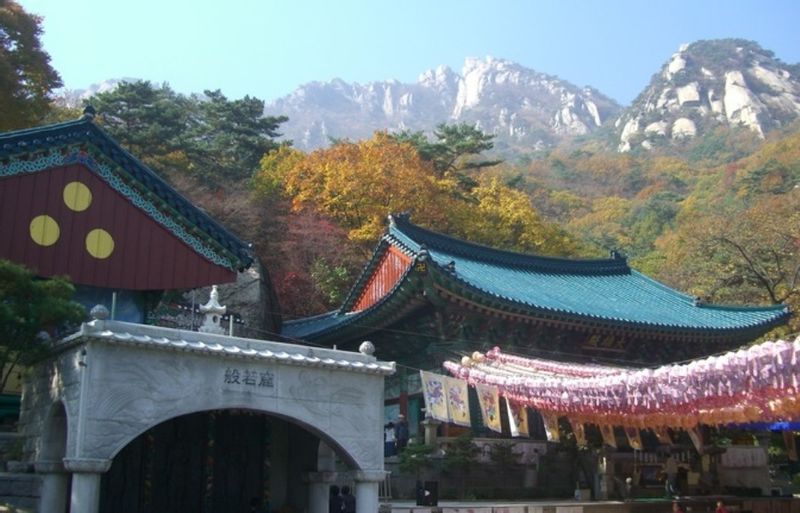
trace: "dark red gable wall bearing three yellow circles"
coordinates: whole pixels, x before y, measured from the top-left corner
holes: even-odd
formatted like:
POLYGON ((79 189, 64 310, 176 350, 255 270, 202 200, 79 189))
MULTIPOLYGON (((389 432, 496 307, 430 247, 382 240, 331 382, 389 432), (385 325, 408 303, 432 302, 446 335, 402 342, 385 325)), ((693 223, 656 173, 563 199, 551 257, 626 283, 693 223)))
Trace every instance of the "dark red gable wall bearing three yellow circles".
POLYGON ((40 276, 129 290, 195 288, 236 278, 80 164, 0 179, 0 258, 40 276))

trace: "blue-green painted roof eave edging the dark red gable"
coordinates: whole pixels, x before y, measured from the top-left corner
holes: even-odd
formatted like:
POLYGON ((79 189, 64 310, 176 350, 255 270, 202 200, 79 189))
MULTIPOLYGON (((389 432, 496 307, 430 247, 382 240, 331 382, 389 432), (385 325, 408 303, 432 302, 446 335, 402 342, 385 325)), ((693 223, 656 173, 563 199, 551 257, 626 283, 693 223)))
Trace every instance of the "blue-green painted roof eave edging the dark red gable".
POLYGON ((84 115, 0 134, 0 178, 82 164, 209 261, 232 271, 250 266, 249 244, 186 200, 92 119, 84 115))

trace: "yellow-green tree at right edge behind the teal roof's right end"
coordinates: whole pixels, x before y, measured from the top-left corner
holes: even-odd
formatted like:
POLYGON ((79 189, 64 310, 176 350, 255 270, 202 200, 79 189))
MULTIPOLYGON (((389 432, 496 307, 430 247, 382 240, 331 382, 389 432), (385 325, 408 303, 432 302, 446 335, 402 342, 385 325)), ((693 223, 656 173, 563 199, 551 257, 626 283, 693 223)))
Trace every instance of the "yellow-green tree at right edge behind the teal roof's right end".
MULTIPOLYGON (((662 276, 711 301, 800 307, 800 188, 686 219, 665 234, 662 276)), ((792 321, 794 329, 800 322, 792 321)))

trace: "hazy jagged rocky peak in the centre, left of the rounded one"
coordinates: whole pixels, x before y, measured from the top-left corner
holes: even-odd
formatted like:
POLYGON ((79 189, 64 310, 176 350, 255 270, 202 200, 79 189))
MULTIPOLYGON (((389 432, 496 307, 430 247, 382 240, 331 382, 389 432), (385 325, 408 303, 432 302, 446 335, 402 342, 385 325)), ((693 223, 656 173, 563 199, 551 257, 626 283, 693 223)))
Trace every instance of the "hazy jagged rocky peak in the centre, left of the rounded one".
POLYGON ((542 148, 563 136, 591 133, 620 109, 590 88, 495 57, 468 58, 460 74, 438 66, 410 84, 313 86, 313 101, 305 85, 298 89, 304 94, 296 91, 266 107, 267 114, 289 116, 284 132, 306 150, 327 145, 329 136, 358 139, 375 130, 431 130, 454 122, 480 126, 503 146, 542 148))

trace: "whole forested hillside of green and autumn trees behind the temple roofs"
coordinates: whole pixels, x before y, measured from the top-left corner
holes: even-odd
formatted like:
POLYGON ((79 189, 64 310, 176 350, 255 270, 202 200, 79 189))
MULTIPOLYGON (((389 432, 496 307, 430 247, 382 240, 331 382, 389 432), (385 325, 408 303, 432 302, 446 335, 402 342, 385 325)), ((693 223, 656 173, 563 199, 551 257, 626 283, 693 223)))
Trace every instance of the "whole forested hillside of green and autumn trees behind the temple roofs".
MULTIPOLYGON (((35 39, 37 20, 10 5, 9 19, 35 39)), ((38 44, 29 48, 46 80, 41 94, 4 104, 4 128, 79 116, 42 102, 60 79, 38 44)), ((33 83, 22 57, 19 69, 0 69, 19 90, 33 83)), ((472 124, 379 131, 302 152, 276 142, 286 118, 264 117, 258 98, 126 82, 86 103, 125 148, 253 243, 287 319, 338 306, 392 212, 515 251, 619 251, 700 301, 800 308, 797 121, 767 134, 720 125, 685 144, 628 153, 601 138, 572 140, 498 162, 494 136, 472 124)), ((788 330, 800 329, 796 316, 792 323, 788 330)))

